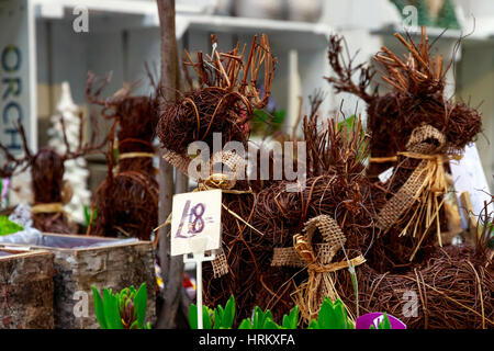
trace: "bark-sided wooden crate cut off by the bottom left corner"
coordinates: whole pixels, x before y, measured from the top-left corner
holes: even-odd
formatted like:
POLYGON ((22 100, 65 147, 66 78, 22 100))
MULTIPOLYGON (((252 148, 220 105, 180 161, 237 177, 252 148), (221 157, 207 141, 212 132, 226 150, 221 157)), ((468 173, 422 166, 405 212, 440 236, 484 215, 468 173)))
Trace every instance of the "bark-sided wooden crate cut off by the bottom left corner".
POLYGON ((0 328, 54 328, 54 253, 0 251, 0 328))

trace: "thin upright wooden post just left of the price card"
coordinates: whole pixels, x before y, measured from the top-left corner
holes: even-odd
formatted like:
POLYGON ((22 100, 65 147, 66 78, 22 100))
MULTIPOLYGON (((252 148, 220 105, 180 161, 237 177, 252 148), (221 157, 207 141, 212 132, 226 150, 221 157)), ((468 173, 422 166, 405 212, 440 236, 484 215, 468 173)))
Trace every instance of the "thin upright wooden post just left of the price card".
MULTIPOLYGON (((160 89, 167 101, 177 98, 177 39, 175 34, 175 0, 157 0, 161 37, 161 77, 160 89)), ((160 152, 160 156, 162 151, 160 152)), ((159 223, 164 223, 171 213, 173 195, 173 167, 160 157, 159 162, 159 223)), ((164 305, 159 314, 157 328, 173 328, 181 302, 183 282, 182 257, 170 256, 168 228, 159 233, 158 254, 164 278, 164 305)))

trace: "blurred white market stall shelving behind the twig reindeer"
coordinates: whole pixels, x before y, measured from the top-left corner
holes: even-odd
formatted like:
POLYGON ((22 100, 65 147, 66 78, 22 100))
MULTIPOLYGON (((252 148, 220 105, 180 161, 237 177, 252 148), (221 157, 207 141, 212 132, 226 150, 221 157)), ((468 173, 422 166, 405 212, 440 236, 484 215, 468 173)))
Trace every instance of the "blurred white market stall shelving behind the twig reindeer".
MULTIPOLYGON (((29 143, 35 149, 49 143, 56 145, 53 116, 99 112, 85 97, 89 70, 98 76, 113 72, 105 95, 119 90, 123 82, 138 80, 135 92, 150 92, 145 63, 157 72, 160 47, 154 0, 2 0, 0 19, 0 49, 4 53, 1 77, 7 79, 0 103, 0 138, 10 143, 13 151, 22 151, 16 149, 20 139, 12 132, 18 116, 22 115, 29 143)), ((480 105, 483 113, 484 134, 476 147, 493 191, 492 0, 177 0, 176 23, 180 53, 183 48, 211 52, 213 33, 224 49, 237 41, 250 42, 254 34, 267 33, 279 57, 272 95, 277 110, 282 112, 283 128, 290 128, 299 114, 299 97, 306 107, 308 94, 317 88, 327 92, 323 111, 341 111, 345 115, 357 111, 364 117, 362 101, 335 95, 323 78, 330 73, 330 33, 344 35, 350 52, 359 52, 357 61, 369 61, 382 45, 398 49, 393 33, 403 32, 404 24, 427 25, 431 41, 440 37, 434 50, 454 60, 448 78, 449 95, 456 91, 471 105, 480 105), (416 13, 411 12, 409 4, 416 13), (449 30, 444 33, 445 27, 449 30)), ((104 127, 100 125, 101 132, 104 127)), ((79 168, 76 166, 74 177, 88 180, 90 191, 106 172, 103 156, 87 157, 79 161, 79 168)), ((22 194, 26 189, 23 178, 16 182, 19 197, 27 196, 22 194)), ((89 202, 86 190, 80 193, 77 201, 89 202)))

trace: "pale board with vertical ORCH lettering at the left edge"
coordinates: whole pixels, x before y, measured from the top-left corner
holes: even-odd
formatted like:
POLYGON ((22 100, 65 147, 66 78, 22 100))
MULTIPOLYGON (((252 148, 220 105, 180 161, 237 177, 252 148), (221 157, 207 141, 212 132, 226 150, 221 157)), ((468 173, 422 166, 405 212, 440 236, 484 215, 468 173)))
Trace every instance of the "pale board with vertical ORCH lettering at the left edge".
POLYGON ((33 151, 37 145, 32 1, 1 0, 0 24, 0 140, 11 154, 23 155, 19 121, 33 151))

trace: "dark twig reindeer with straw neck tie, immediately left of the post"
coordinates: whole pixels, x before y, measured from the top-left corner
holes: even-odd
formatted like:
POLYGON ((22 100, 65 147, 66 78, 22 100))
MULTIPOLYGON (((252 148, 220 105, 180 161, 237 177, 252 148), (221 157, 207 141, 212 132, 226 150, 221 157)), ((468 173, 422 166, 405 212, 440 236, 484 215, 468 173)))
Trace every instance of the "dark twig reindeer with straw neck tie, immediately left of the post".
POLYGON ((88 100, 102 105, 102 115, 113 120, 114 126, 109 136, 106 179, 94 193, 92 207, 97 208, 97 217, 88 228, 88 234, 148 240, 158 225, 158 183, 151 145, 158 120, 157 99, 131 97, 132 86, 125 84, 113 97, 102 100, 99 94, 108 79, 92 93, 93 80, 94 76, 89 73, 88 100), (116 160, 113 139, 115 128, 116 160))

